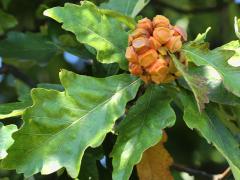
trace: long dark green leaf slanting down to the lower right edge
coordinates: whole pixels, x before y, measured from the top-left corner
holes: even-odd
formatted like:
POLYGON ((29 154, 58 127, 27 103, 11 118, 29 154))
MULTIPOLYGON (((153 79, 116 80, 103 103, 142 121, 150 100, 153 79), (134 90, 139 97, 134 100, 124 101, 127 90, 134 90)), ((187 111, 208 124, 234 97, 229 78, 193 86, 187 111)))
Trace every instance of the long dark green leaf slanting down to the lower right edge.
POLYGON ((179 93, 184 106, 184 121, 191 129, 198 130, 226 158, 235 170, 240 169, 239 143, 224 126, 213 106, 206 112, 199 113, 193 97, 183 90, 179 93))

